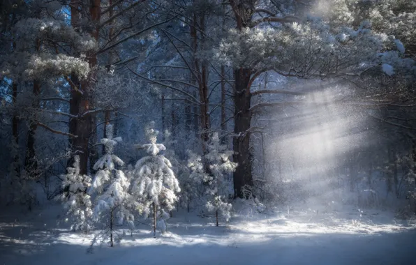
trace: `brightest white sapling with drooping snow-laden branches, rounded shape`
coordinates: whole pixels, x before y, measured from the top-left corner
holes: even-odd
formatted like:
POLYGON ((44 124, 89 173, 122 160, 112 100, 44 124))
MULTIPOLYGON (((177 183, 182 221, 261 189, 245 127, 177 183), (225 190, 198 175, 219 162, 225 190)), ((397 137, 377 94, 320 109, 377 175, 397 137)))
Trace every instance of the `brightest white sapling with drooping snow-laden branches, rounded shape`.
POLYGON ((166 148, 163 144, 156 143, 158 131, 153 127, 154 123, 150 123, 146 128, 149 144, 137 146, 147 151, 149 156, 138 160, 135 169, 131 172, 133 180, 131 193, 133 201, 140 202, 145 217, 153 213, 153 230, 156 236, 158 215, 165 219, 165 213, 174 209, 174 203, 178 199, 177 193, 181 189, 170 161, 159 154, 166 148))

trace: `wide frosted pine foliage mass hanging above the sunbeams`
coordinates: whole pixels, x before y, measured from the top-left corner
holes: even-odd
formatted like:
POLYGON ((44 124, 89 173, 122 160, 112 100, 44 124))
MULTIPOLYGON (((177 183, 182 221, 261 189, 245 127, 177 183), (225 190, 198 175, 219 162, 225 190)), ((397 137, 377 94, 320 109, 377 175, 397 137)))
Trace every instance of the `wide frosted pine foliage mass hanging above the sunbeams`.
POLYGON ((368 24, 357 30, 339 27, 333 31, 322 20, 309 19, 275 29, 231 29, 216 56, 234 67, 270 68, 282 75, 311 77, 351 71, 359 62, 373 63, 381 48, 382 42, 368 24))

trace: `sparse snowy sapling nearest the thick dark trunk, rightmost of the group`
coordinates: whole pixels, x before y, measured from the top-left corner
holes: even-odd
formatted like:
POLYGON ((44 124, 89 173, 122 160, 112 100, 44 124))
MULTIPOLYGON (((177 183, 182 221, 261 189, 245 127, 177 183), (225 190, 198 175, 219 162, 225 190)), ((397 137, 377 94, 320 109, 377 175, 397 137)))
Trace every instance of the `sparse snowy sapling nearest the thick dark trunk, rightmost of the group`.
POLYGON ((209 172, 206 172, 202 165, 202 158, 193 157, 189 166, 192 170, 191 178, 195 180, 199 178, 207 185, 207 210, 215 213, 216 226, 218 227, 218 215, 221 215, 226 221, 231 217, 232 205, 225 202, 229 185, 225 177, 235 171, 237 163, 230 161, 232 151, 228 151, 227 146, 221 144, 217 132, 211 135, 207 149, 208 152, 204 158, 209 165, 209 172))

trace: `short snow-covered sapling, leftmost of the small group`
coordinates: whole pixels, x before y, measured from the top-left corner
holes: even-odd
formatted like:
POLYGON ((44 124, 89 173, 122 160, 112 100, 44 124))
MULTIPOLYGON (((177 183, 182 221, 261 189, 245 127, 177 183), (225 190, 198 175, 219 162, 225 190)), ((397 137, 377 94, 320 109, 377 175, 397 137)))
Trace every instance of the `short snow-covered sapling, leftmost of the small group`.
POLYGON ((91 197, 87 190, 91 186, 91 178, 80 174, 80 156, 74 157, 73 167, 68 167, 68 173, 63 175, 61 200, 67 209, 67 220, 71 222, 73 231, 88 232, 91 229, 91 197))

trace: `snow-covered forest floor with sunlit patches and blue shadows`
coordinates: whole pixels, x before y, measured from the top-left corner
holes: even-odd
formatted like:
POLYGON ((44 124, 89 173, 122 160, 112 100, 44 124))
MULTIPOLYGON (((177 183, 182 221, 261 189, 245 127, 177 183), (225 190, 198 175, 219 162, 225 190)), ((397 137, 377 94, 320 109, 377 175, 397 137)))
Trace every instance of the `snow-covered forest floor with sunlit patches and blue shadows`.
POLYGON ((19 264, 416 264, 416 229, 389 211, 314 212, 237 205, 228 224, 173 212, 156 239, 138 225, 114 248, 68 232, 61 206, 0 211, 0 265, 19 264))

